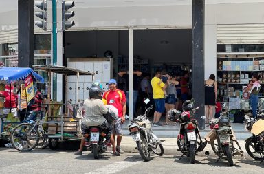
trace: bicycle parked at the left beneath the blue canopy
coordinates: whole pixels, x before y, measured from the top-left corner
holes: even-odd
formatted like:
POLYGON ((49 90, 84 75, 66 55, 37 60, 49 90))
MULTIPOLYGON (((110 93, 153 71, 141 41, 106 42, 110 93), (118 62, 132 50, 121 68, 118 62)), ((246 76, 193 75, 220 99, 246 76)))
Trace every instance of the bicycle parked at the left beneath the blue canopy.
POLYGON ((43 123, 39 119, 41 112, 35 114, 36 121, 21 123, 12 130, 10 142, 18 151, 31 151, 35 147, 44 149, 50 143, 47 131, 43 129, 43 123))

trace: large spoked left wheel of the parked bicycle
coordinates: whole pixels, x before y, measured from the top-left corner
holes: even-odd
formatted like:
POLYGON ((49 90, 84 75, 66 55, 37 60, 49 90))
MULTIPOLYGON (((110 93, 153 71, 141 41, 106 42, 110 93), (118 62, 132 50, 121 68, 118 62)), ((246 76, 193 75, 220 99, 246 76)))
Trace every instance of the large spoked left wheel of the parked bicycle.
POLYGON ((36 131, 32 124, 19 124, 14 127, 10 142, 18 151, 31 151, 39 143, 39 131, 36 131))

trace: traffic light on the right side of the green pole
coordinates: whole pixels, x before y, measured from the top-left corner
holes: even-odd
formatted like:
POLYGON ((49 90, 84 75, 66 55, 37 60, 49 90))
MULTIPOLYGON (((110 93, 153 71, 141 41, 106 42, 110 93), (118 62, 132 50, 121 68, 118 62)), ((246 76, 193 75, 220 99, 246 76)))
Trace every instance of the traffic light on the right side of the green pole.
POLYGON ((68 21, 75 14, 74 11, 68 11, 72 7, 74 7, 74 1, 63 1, 63 30, 67 30, 75 25, 74 21, 68 21))

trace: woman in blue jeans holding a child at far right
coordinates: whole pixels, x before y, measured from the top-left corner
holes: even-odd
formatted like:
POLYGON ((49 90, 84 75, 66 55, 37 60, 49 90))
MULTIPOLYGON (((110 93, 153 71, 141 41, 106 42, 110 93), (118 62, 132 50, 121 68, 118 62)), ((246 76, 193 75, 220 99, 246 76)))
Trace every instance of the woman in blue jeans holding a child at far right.
POLYGON ((249 92, 250 92, 250 105, 252 109, 253 118, 256 117, 256 109, 258 109, 259 91, 261 89, 261 84, 259 83, 260 78, 261 76, 257 74, 252 74, 253 85, 249 92))

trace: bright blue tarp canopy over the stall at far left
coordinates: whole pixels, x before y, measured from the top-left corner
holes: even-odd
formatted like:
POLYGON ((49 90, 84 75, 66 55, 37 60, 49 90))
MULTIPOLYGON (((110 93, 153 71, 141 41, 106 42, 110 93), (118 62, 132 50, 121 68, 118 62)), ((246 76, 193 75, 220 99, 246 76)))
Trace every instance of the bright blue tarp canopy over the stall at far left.
POLYGON ((5 83, 24 80, 30 74, 32 74, 35 80, 44 83, 44 78, 36 74, 29 67, 0 67, 0 81, 4 81, 5 83))

